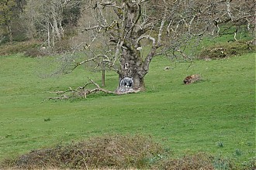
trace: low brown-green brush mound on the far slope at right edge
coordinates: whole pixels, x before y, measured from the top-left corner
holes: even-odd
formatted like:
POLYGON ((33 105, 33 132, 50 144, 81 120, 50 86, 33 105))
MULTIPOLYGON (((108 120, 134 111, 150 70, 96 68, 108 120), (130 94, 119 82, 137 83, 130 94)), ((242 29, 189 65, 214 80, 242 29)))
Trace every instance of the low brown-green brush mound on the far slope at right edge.
POLYGON ((224 42, 202 49, 199 53, 199 59, 222 59, 240 56, 244 53, 254 53, 255 51, 256 46, 253 45, 253 41, 224 42))

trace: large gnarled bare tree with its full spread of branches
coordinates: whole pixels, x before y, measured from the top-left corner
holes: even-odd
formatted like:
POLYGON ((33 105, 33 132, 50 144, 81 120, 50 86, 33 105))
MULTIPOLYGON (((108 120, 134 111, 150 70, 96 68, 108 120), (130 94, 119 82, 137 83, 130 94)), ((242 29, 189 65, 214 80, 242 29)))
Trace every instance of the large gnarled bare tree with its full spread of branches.
POLYGON ((255 19, 252 0, 91 0, 84 6, 79 36, 87 36, 68 56, 73 65, 67 73, 91 61, 95 67, 104 62, 119 80, 132 78, 134 90, 145 90, 144 76, 157 54, 192 59, 195 49, 189 48, 203 36, 217 36, 227 23, 244 21, 251 29, 255 19))

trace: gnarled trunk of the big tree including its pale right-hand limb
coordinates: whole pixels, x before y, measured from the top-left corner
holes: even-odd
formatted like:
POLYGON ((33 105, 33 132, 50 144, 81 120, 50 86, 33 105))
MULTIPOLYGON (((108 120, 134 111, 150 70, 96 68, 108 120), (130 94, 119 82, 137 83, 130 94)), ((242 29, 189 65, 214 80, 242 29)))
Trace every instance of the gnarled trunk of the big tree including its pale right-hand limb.
POLYGON ((128 12, 126 13, 124 22, 124 32, 126 32, 126 36, 124 36, 122 55, 120 58, 121 68, 119 71, 119 80, 123 79, 123 77, 133 78, 133 89, 145 90, 144 76, 148 73, 150 61, 153 59, 156 50, 161 46, 161 36, 168 8, 164 8, 164 15, 161 20, 161 26, 158 30, 156 41, 156 39, 149 35, 143 35, 144 32, 147 32, 147 27, 145 29, 140 27, 140 31, 135 30, 137 22, 141 17, 140 5, 131 5, 128 1, 124 2, 126 2, 128 12), (140 55, 141 39, 150 39, 152 41, 150 52, 145 59, 140 55))

